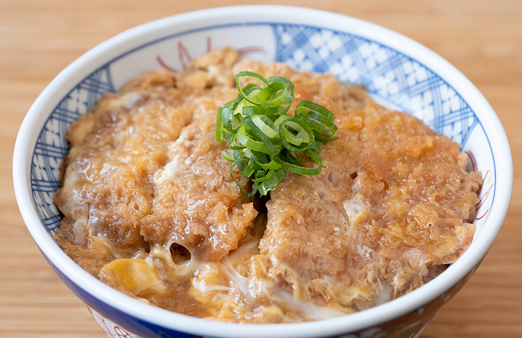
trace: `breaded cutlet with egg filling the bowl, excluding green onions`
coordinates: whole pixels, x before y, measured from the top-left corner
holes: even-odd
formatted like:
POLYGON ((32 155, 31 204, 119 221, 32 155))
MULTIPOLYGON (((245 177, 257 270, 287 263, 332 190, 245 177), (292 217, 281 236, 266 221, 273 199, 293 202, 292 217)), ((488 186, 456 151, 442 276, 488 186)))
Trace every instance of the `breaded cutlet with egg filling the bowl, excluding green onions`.
POLYGON ((360 311, 459 258, 482 180, 458 144, 332 75, 239 56, 145 73, 73 123, 55 195, 68 256, 130 296, 239 323, 360 311), (251 182, 231 176, 215 140, 240 70, 286 77, 296 102, 328 108, 339 128, 321 173, 288 173, 269 199, 241 193, 251 182))

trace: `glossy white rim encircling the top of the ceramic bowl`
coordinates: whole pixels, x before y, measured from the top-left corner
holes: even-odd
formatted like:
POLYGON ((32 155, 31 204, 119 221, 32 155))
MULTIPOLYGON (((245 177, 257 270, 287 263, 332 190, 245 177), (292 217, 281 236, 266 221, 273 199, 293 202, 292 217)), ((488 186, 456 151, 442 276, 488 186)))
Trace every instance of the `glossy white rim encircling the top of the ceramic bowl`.
MULTIPOLYGON (((247 16, 248 17, 248 16, 247 16)), ((40 127, 41 130, 41 127, 40 127)), ((202 336, 213 337, 327 337, 346 332, 357 332, 373 326, 387 323, 389 320, 400 318, 411 311, 429 303, 437 296, 440 296, 454 284, 475 268, 490 248, 502 222, 505 218, 513 181, 513 168, 511 151, 506 134, 494 113, 492 107, 478 89, 453 65, 444 60, 435 52, 427 47, 405 37, 397 32, 391 31, 380 25, 368 23, 364 20, 351 18, 338 13, 331 13, 312 8, 279 5, 245 5, 245 6, 226 6, 209 8, 200 11, 193 11, 172 15, 150 23, 138 25, 130 28, 119 35, 107 39, 105 42, 87 51, 83 56, 76 59, 57 75, 54 80, 38 96, 35 103, 30 107, 25 116, 13 154, 13 183, 15 187, 16 199, 20 208, 20 213, 28 227, 37 246, 44 256, 47 256, 61 273, 66 275, 71 281, 77 284, 95 298, 107 303, 123 313, 132 315, 135 318, 146 320, 147 322, 166 327, 171 330, 190 332, 202 336), (241 20, 244 15, 253 15, 255 18, 265 18, 265 20, 241 20), (314 18, 312 24, 306 18, 314 18), (274 23, 296 23, 302 25, 312 25, 314 27, 327 28, 339 32, 349 32, 373 41, 380 42, 385 46, 396 49, 403 54, 420 62, 427 68, 437 73, 452 86, 458 87, 461 96, 466 97, 469 106, 475 111, 481 111, 480 120, 488 130, 494 130, 493 134, 487 134, 494 139, 494 148, 498 165, 497 170, 497 198, 492 202, 491 210, 487 219, 485 233, 466 251, 466 253, 449 266, 435 280, 428 282, 413 292, 405 296, 394 299, 380 306, 375 306, 359 313, 353 313, 349 317, 341 316, 325 320, 318 320, 307 323, 290 324, 248 324, 238 325, 235 323, 222 323, 201 318, 193 318, 162 308, 157 308, 133 299, 130 296, 121 294, 112 289, 107 284, 97 280, 85 270, 76 265, 66 253, 51 238, 42 225, 40 218, 32 206, 30 190, 30 163, 32 161, 32 151, 36 144, 39 132, 36 125, 44 124, 49 114, 42 115, 41 112, 53 111, 63 95, 56 95, 63 88, 71 88, 92 72, 92 67, 96 68, 100 60, 111 60, 116 55, 121 55, 129 51, 134 44, 141 44, 140 41, 150 41, 150 37, 158 39, 164 36, 164 30, 169 27, 178 27, 178 30, 186 31, 187 27, 210 27, 205 20, 214 22, 274 22, 274 23), (228 20, 228 21, 227 21, 228 20), (205 24, 200 24, 203 22, 205 24), (355 28, 354 28, 355 27, 355 28), (159 34, 158 34, 159 33, 159 34), (148 40, 147 40, 148 39, 148 40), (422 62, 421 62, 422 61, 422 62), (71 85, 70 85, 71 84, 71 85), (58 97, 57 97, 58 96, 58 97), (30 150, 30 151, 28 151, 30 150)))

